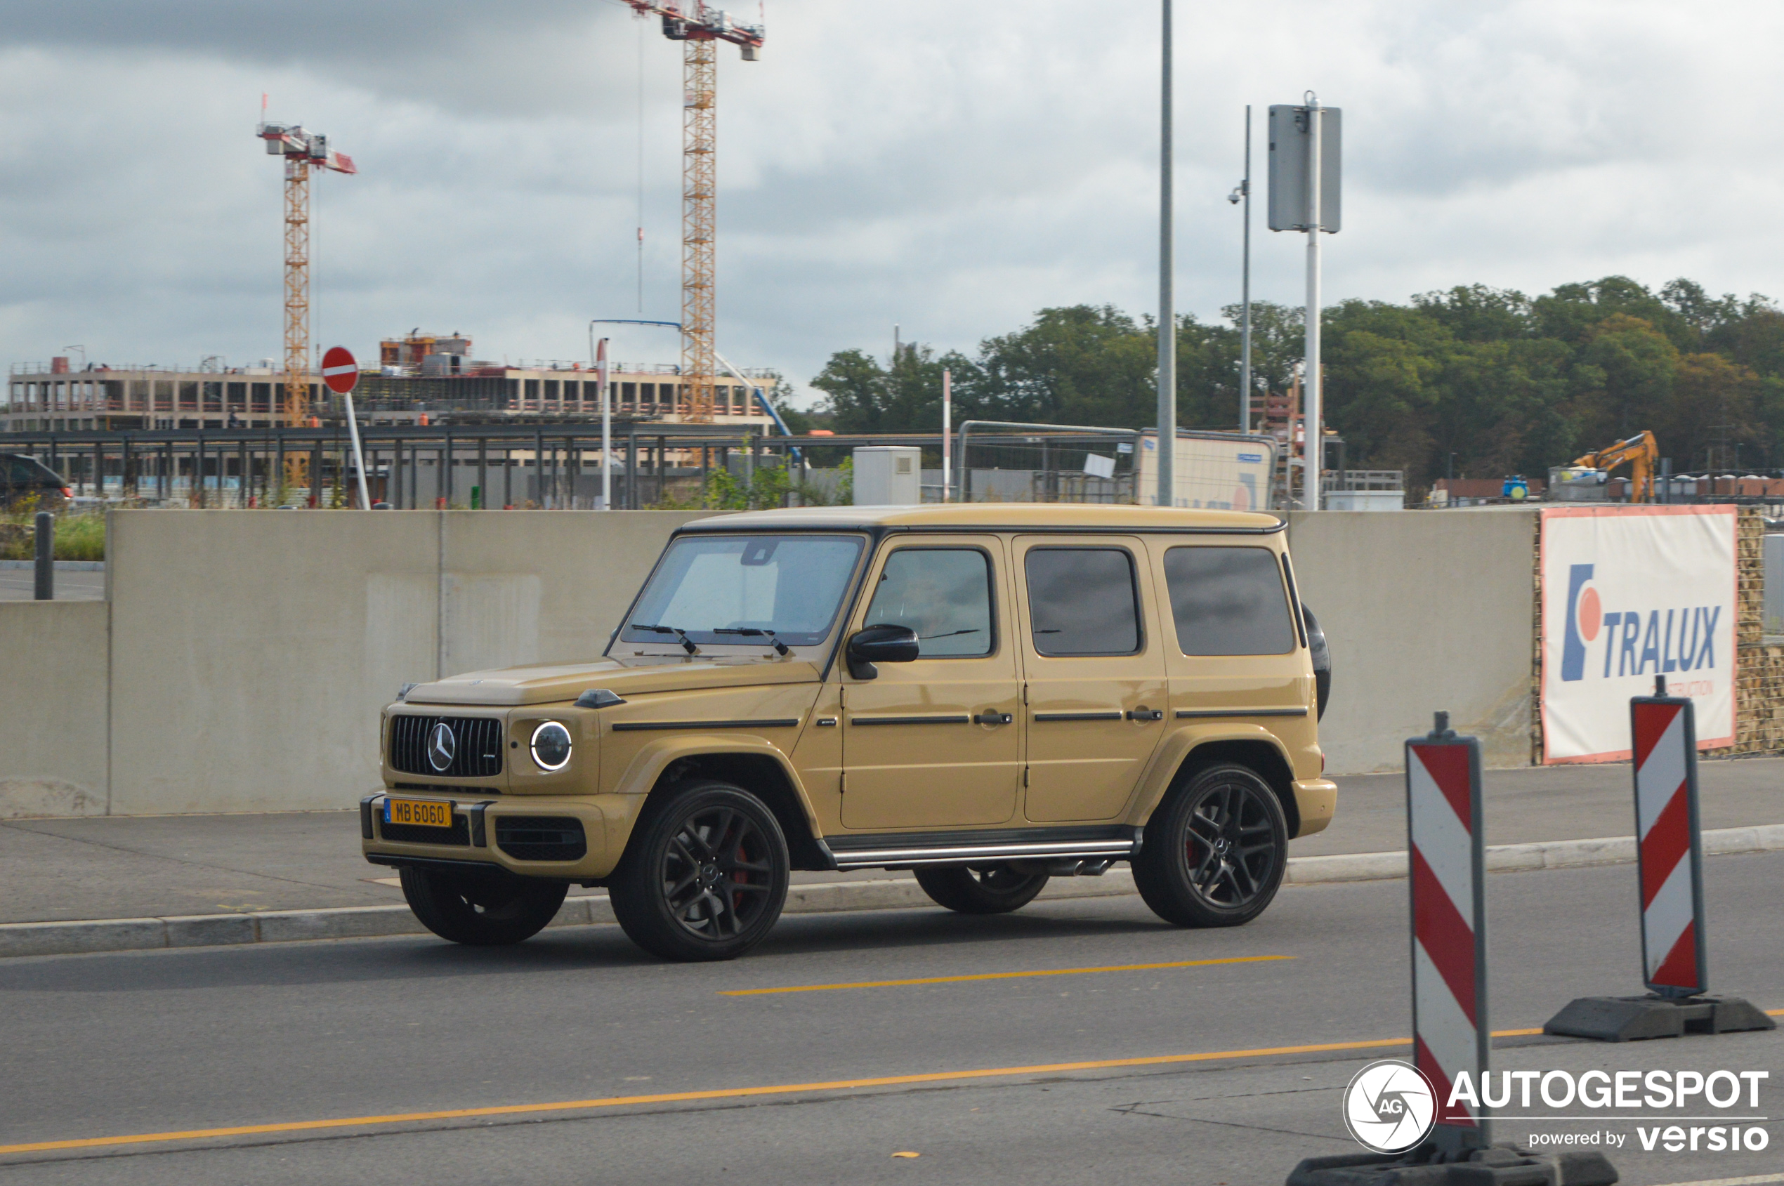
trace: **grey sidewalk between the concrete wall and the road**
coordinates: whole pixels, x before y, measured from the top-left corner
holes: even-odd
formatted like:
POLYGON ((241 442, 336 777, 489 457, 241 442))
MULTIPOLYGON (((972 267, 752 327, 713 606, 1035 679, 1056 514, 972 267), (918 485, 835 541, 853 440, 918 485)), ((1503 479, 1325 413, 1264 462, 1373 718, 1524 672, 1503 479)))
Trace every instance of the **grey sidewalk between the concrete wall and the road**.
MULTIPOLYGON (((1629 778, 1627 765, 1488 770, 1486 842, 1540 845, 1629 836, 1634 831, 1629 778)), ((1784 758, 1704 762, 1700 785, 1706 833, 1784 826, 1784 758)), ((1338 779, 1338 787, 1333 826, 1290 845, 1295 863, 1290 881, 1404 876, 1404 860, 1342 856, 1406 847, 1404 778, 1352 776, 1338 779)), ((1780 833, 1773 828, 1766 835, 1780 833)), ((1764 847, 1773 845, 1768 840, 1764 847)), ((1625 849, 1629 845, 1573 845, 1561 852, 1559 863, 1629 860, 1625 849)), ((1557 863, 1536 849, 1500 856, 1499 867, 1557 863)), ((392 869, 360 856, 357 811, 0 820, 0 924, 189 918, 187 929, 193 929, 198 926, 194 917, 221 924, 232 915, 266 915, 266 926, 243 920, 241 927, 219 929, 207 924, 219 935, 235 935, 216 942, 257 942, 275 935, 319 936, 303 929, 309 920, 285 918, 275 926, 273 915, 280 911, 348 910, 353 911, 351 926, 323 933, 412 931, 403 894, 392 881, 392 869)), ((910 874, 794 874, 789 910, 926 901, 913 885, 896 885, 899 881, 908 883, 910 874), (846 890, 837 883, 858 885, 846 890)), ((1111 870, 1099 879, 1056 879, 1047 894, 1120 894, 1131 886, 1124 870, 1111 870)), ((573 888, 573 895, 605 897, 599 890, 580 888, 573 888)), ((605 902, 592 911, 589 902, 576 904, 564 922, 603 920, 596 915, 605 915, 605 902)))

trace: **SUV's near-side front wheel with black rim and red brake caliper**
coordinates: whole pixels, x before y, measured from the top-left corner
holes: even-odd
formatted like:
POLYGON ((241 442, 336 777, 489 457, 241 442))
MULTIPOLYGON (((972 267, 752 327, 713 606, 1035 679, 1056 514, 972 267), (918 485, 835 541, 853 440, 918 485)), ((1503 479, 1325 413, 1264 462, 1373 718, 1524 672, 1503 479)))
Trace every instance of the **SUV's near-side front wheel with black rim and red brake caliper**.
POLYGON ((607 894, 633 943, 664 960, 735 960, 767 936, 792 879, 762 799, 694 783, 639 822, 607 894))

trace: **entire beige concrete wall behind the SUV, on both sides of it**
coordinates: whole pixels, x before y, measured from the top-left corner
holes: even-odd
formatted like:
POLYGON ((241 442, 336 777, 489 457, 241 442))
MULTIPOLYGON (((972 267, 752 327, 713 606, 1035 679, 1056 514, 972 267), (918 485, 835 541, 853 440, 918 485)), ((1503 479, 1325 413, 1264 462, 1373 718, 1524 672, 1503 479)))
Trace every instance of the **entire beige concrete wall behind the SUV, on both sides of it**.
MULTIPOLYGON (((1329 770, 1447 708, 1529 762, 1529 510, 1295 515, 1329 770)), ((0 817, 339 808, 398 685, 589 658, 698 512, 112 512, 107 603, 0 603, 0 817)))

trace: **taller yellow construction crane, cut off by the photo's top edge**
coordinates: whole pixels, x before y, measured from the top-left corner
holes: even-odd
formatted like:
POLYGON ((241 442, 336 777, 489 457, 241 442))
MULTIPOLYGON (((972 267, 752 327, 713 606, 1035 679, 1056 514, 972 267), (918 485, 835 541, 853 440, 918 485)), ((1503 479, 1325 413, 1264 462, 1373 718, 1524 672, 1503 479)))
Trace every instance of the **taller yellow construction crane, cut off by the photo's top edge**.
POLYGON ((756 61, 762 25, 744 25, 701 0, 626 0, 639 16, 662 18, 664 36, 681 48, 681 399, 685 421, 712 419, 714 230, 719 111, 719 41, 756 61))

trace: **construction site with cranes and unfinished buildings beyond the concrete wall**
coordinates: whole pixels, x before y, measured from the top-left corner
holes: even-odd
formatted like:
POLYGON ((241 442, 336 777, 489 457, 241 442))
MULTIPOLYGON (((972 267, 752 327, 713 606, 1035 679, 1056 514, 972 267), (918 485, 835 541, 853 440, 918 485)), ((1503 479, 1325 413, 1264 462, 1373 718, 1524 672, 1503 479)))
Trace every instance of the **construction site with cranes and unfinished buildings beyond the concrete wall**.
MULTIPOLYGON (((765 29, 706 5, 623 2, 681 45, 678 321, 592 319, 585 360, 516 362, 480 358, 467 334, 416 326, 380 339, 376 362, 366 351, 346 391, 332 387, 312 341, 310 191, 325 175, 350 180, 359 166, 328 136, 268 119, 262 103, 253 134, 278 159, 284 182, 282 355, 255 366, 212 355, 178 367, 89 362, 82 350, 78 364, 68 355, 12 364, 0 451, 61 474, 68 505, 87 510, 1161 501, 1158 437, 1144 428, 972 421, 956 432, 944 408, 926 432, 796 435, 774 401, 780 371, 739 369, 715 341, 717 54, 730 45, 742 61, 758 61, 765 29), (596 341, 603 326, 674 330, 680 358, 610 360, 608 339, 596 341), (860 448, 915 449, 901 460, 910 482, 872 485, 856 471, 860 448), (715 473, 728 476, 723 498, 714 494, 715 473), (774 482, 758 480, 769 473, 774 482)), ((1249 202, 1249 180, 1238 193, 1249 202)), ((642 243, 642 226, 639 235, 642 243)), ((1422 487, 1404 469, 1352 465, 1345 435, 1324 419, 1320 444, 1309 449, 1306 408, 1317 394, 1309 401, 1304 378, 1297 364, 1279 391, 1254 385, 1243 432, 1177 432, 1174 501, 1358 512, 1739 501, 1784 514, 1784 471, 1673 473, 1652 432, 1547 474, 1445 474, 1422 487), (1318 465, 1311 483, 1308 458, 1318 465)), ((18 501, 16 492, 5 501, 18 501)))

